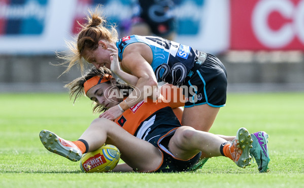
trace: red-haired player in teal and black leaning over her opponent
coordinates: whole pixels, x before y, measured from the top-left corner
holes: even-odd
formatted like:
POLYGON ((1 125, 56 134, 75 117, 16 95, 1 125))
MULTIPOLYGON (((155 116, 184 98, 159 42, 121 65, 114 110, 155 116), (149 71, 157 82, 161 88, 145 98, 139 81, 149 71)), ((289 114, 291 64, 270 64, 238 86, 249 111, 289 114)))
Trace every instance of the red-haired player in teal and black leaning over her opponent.
MULTIPOLYGON (((77 63, 83 67, 84 62, 89 62, 97 69, 111 69, 137 88, 99 117, 113 120, 145 97, 156 99, 157 83, 164 81, 184 90, 182 125, 209 132, 220 107, 226 103, 227 73, 217 57, 160 37, 133 35, 118 40, 115 27, 106 25, 97 10, 90 12, 87 19, 77 42, 69 46, 73 54, 62 57, 69 63, 65 72, 77 63)), ((231 141, 235 137, 223 138, 231 141)), ((267 140, 265 136, 262 139, 267 140)), ((268 164, 268 153, 255 153, 254 157, 260 159, 258 166, 265 161, 268 164)))

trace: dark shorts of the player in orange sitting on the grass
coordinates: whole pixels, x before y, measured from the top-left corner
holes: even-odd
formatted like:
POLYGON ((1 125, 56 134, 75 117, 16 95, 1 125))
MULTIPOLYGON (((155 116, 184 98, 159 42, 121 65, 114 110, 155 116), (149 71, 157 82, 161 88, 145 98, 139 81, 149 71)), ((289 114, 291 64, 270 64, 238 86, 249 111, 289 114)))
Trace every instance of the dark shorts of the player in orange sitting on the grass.
POLYGON ((153 134, 156 134, 157 136, 152 137, 152 139, 149 139, 148 142, 153 144, 155 147, 157 147, 163 155, 163 161, 162 164, 155 169, 153 172, 183 172, 183 171, 189 171, 199 160, 201 152, 194 155, 189 160, 181 160, 178 158, 175 158, 175 156, 169 151, 168 144, 171 139, 171 137, 174 135, 176 129, 172 129, 167 127, 163 128, 157 128, 159 130, 154 130, 153 134), (163 133, 166 132, 166 134, 158 135, 157 132, 163 133))

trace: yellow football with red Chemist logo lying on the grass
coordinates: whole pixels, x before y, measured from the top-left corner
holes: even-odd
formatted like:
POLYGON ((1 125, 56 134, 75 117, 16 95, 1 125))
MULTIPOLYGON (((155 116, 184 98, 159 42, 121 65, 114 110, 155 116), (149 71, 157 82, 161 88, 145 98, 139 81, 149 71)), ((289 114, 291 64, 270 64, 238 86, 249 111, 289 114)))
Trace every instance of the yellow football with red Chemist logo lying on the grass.
POLYGON ((113 170, 120 159, 119 149, 110 144, 82 156, 80 168, 83 172, 108 172, 113 170))

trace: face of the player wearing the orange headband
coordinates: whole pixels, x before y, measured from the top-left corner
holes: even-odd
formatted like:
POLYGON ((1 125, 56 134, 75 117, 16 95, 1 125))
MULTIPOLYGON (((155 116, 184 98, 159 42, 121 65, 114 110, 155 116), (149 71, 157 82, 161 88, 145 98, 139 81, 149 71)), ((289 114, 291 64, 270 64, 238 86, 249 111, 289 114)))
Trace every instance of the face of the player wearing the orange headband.
POLYGON ((119 89, 111 83, 100 83, 87 92, 87 97, 105 108, 111 108, 122 101, 119 98, 119 89))

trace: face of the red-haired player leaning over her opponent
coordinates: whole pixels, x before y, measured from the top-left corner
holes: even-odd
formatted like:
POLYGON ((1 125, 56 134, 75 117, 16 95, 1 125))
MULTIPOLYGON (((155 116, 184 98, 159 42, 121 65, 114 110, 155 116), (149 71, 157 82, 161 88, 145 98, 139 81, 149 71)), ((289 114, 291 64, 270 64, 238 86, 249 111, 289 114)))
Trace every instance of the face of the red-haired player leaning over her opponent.
POLYGON ((105 43, 101 43, 98 45, 96 50, 90 50, 85 48, 84 50, 84 59, 88 61, 90 64, 96 69, 100 67, 106 67, 108 69, 111 68, 111 60, 110 60, 110 53, 111 51, 105 47, 105 43))

